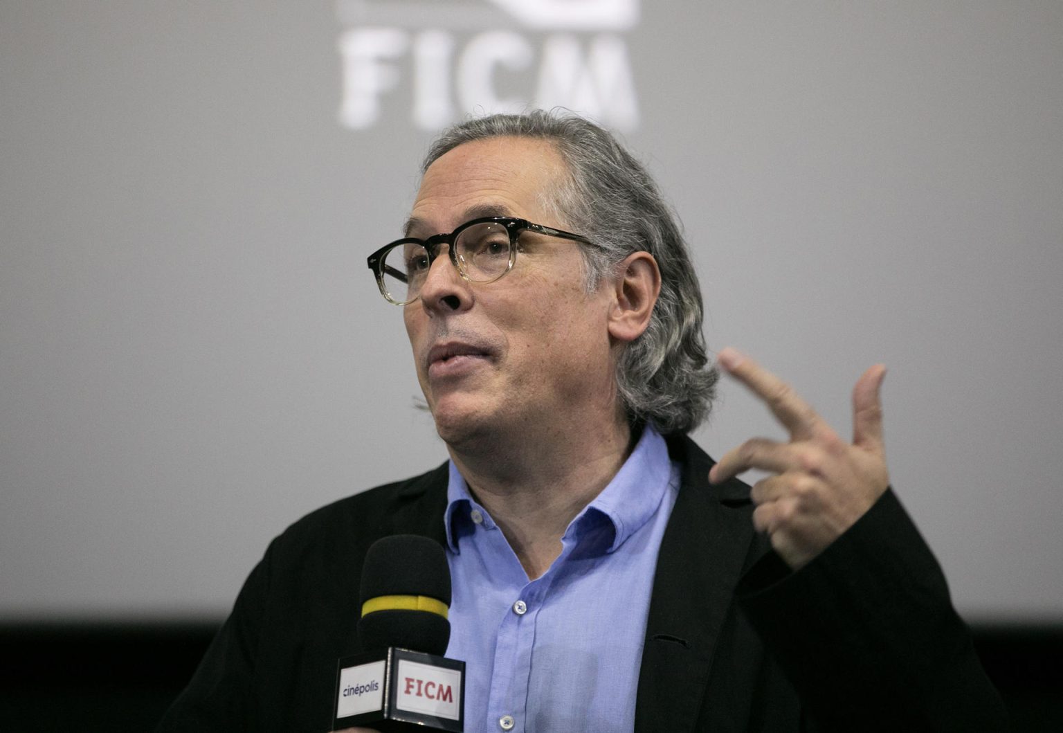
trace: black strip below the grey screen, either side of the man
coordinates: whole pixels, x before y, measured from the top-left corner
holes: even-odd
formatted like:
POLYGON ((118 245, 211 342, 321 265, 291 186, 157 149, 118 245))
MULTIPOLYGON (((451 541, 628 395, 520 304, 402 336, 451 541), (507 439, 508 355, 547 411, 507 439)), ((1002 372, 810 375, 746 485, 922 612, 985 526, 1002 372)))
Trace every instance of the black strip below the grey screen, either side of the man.
MULTIPOLYGON (((219 623, 0 626, 0 730, 150 731, 219 623)), ((1015 731, 1063 731, 1063 627, 975 628, 1015 731)))

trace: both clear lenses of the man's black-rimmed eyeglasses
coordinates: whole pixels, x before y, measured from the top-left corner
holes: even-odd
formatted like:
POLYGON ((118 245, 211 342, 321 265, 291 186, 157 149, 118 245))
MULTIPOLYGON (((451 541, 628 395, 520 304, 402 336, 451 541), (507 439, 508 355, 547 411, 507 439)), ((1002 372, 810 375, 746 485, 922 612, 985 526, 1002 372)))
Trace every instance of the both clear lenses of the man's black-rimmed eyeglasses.
MULTIPOLYGON (((512 256, 509 231, 494 221, 467 227, 454 241, 454 253, 458 271, 467 280, 474 283, 497 280, 509 268, 512 256)), ((417 298, 429 265, 428 252, 421 245, 406 243, 388 250, 382 267, 384 285, 391 299, 402 303, 417 298)))

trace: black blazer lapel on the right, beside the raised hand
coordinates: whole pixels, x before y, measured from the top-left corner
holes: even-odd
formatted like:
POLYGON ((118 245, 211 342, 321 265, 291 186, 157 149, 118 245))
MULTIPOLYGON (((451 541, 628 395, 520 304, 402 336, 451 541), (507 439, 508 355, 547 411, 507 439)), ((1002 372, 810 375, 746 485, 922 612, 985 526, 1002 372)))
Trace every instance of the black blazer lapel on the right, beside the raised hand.
POLYGON ((636 731, 694 729, 754 534, 745 484, 710 486, 713 461, 690 438, 670 438, 669 450, 682 483, 657 559, 636 731))

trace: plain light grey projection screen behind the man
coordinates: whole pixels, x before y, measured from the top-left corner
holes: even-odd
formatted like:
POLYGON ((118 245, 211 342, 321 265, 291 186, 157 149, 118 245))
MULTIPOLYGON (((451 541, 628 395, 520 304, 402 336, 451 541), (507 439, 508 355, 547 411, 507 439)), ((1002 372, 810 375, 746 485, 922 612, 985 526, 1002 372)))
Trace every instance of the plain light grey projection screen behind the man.
MULTIPOLYGON (((473 46, 529 100, 547 48, 606 36, 637 116, 574 99, 674 201, 710 346, 844 431, 884 362, 893 481, 960 610, 1063 620, 1063 3, 503 4, 0 0, 0 617, 215 618, 300 515, 442 461, 365 266, 416 191, 417 95, 490 111, 473 46), (410 46, 352 129, 366 27, 410 46)), ((727 385, 695 437, 755 434, 727 385)))

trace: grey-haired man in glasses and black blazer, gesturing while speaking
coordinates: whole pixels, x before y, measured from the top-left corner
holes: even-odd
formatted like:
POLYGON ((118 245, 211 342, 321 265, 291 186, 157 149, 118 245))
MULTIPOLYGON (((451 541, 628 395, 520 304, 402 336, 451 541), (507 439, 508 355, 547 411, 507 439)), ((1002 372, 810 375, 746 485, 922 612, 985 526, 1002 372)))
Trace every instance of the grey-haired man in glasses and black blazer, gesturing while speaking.
POLYGON ((721 351, 791 439, 713 464, 685 436, 716 380, 701 296, 642 166, 535 112, 444 132, 423 173, 370 265, 451 461, 276 538, 161 730, 326 730, 361 560, 399 533, 446 548, 469 731, 1005 727, 888 488, 882 367, 849 444, 721 351))

